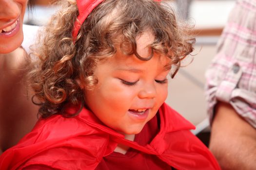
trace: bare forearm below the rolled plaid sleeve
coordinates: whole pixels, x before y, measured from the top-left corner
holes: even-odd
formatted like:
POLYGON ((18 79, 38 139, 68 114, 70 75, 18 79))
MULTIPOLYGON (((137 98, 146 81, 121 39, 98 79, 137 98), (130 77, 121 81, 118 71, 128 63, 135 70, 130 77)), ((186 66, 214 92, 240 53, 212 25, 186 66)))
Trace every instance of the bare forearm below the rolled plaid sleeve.
POLYGON ((217 103, 209 148, 222 170, 256 170, 256 129, 228 103, 217 103))

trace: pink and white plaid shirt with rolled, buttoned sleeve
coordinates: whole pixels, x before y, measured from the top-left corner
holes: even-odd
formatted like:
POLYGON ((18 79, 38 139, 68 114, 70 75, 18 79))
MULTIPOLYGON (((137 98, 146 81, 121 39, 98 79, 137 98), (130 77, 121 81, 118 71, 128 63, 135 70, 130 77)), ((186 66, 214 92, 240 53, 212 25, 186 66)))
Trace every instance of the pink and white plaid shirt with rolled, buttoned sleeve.
POLYGON ((256 128, 256 0, 237 0, 206 80, 210 122, 215 104, 222 101, 256 128))

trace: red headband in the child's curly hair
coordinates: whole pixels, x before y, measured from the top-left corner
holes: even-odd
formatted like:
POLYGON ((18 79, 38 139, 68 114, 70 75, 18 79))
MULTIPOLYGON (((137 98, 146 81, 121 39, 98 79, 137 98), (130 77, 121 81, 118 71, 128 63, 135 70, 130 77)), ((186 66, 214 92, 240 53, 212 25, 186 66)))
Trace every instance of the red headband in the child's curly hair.
MULTIPOLYGON (((94 8, 98 6, 103 0, 77 0, 79 16, 74 24, 74 28, 72 31, 73 41, 75 43, 78 32, 81 28, 82 23, 88 17, 88 15, 93 11, 94 8)), ((161 0, 155 0, 161 1, 161 0)))

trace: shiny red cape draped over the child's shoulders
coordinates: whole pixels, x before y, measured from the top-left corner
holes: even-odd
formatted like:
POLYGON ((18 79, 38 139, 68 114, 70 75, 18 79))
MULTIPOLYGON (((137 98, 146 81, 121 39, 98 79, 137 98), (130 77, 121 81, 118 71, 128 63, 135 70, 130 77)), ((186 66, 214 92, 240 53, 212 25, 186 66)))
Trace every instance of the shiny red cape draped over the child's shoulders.
POLYGON ((155 154, 178 170, 220 170, 207 147, 191 132, 195 127, 167 104, 159 108, 160 131, 146 146, 124 139, 85 108, 74 118, 40 119, 32 132, 0 156, 0 170, 47 165, 60 170, 94 170, 118 143, 155 154))

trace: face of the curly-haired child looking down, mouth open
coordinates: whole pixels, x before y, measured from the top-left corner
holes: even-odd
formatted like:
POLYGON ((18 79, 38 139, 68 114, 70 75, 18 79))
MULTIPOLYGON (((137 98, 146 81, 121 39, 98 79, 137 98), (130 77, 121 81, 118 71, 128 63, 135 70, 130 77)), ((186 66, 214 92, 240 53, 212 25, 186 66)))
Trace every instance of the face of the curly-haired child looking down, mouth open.
MULTIPOLYGON (((138 54, 149 56, 153 42, 149 33, 137 39, 138 54)), ((126 134, 138 134, 158 112, 167 97, 167 57, 154 55, 149 61, 120 51, 95 70, 98 84, 85 90, 85 102, 105 125, 126 134)))

